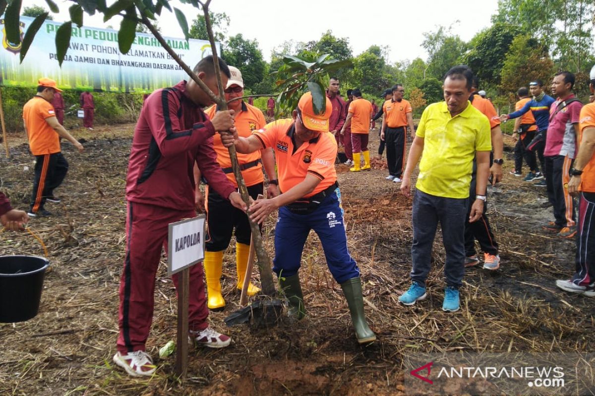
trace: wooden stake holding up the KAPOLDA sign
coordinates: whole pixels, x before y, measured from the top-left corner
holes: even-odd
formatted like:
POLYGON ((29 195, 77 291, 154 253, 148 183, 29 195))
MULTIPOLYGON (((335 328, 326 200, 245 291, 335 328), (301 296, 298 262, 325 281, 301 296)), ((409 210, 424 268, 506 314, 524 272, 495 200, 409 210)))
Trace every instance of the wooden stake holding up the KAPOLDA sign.
MULTIPOLYGON (((198 263, 196 265, 202 265, 198 263)), ((186 378, 188 368, 188 292, 190 288, 190 268, 179 272, 178 279, 178 339, 176 346, 176 375, 186 378)))

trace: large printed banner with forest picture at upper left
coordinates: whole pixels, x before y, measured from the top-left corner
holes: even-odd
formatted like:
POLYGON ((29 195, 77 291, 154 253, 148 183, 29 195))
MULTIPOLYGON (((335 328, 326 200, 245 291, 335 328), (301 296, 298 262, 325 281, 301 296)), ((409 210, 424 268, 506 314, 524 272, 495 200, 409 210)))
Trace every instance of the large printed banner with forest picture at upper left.
MULTIPOLYGON (((21 16, 21 40, 33 19, 21 16)), ((136 33, 129 53, 123 55, 118 50, 116 30, 76 25, 60 68, 55 54, 56 31, 60 25, 45 21, 20 64, 21 46, 7 42, 4 18, 0 18, 0 86, 36 87, 39 78, 48 77, 56 80, 62 89, 150 93, 188 79, 186 72, 151 34, 136 33)), ((190 68, 211 55, 208 41, 164 39, 190 68)), ((218 44, 217 50, 220 50, 218 44)))

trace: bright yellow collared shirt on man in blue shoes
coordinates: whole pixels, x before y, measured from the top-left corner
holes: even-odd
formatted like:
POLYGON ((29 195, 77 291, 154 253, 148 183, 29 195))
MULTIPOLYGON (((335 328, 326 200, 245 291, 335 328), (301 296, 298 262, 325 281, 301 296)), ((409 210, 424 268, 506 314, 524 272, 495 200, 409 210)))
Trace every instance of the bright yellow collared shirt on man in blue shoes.
POLYGON ((415 134, 424 138, 417 188, 444 198, 468 198, 475 151, 491 151, 490 122, 468 103, 450 116, 446 102, 430 104, 415 134))

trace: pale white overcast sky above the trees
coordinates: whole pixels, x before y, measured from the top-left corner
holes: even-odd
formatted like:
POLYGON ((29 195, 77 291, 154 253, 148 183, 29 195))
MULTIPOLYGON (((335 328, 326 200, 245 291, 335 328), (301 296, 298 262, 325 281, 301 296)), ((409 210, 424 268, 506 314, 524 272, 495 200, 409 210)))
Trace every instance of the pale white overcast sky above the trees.
MULTIPOLYGON (((55 0, 56 1, 56 0, 55 0)), ((55 21, 69 20, 69 1, 56 1, 60 14, 55 21)), ((108 0, 108 4, 111 1, 108 0)), ((186 14, 188 23, 199 11, 174 0, 170 4, 186 14)), ((43 0, 23 0, 23 8, 39 5, 43 0)), ((287 40, 318 40, 327 30, 336 37, 346 37, 357 56, 371 45, 389 46, 389 62, 420 57, 427 59, 421 43, 423 33, 437 26, 452 26, 452 32, 468 41, 481 29, 490 26, 497 0, 212 0, 212 12, 226 12, 230 18, 228 36, 242 33, 245 39, 256 39, 262 55, 269 61, 275 47, 287 40), (249 7, 248 7, 249 6, 249 7)), ((83 24, 90 27, 120 27, 118 17, 104 23, 102 17, 84 15, 83 24)), ((164 9, 159 27, 165 36, 183 37, 172 12, 164 9)))

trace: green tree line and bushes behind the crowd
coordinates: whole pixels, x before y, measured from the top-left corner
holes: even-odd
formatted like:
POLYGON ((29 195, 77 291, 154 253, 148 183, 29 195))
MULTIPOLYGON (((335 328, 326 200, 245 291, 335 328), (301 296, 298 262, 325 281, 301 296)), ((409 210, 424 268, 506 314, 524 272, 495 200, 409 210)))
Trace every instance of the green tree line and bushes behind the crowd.
MULTIPOLYGON (((35 6, 25 8, 23 15, 36 17, 43 12, 42 7, 35 6)), ((277 71, 283 66, 280 54, 317 58, 330 53, 333 58, 351 61, 350 66, 334 73, 341 81, 343 95, 347 88, 358 87, 364 97, 376 99, 380 104, 381 93, 386 88, 403 84, 405 99, 414 107, 415 117, 421 115, 427 104, 443 99, 441 80, 456 64, 466 64, 473 69, 480 79, 480 89, 487 92, 500 112, 511 110, 516 102, 516 90, 526 87, 531 80, 540 78, 549 92, 552 75, 562 70, 576 75, 575 91, 586 103, 588 74, 595 64, 593 0, 500 0, 490 26, 478 31, 469 42, 456 33, 458 22, 437 26, 424 33, 422 46, 428 52, 427 59, 404 59, 394 64, 388 61, 389 47, 371 45, 355 55, 349 38, 336 37, 331 30, 316 41, 280 43, 267 62, 256 40, 242 34, 228 36, 230 18, 224 12, 212 13, 211 21, 215 40, 221 43, 221 57, 242 71, 248 94, 279 92, 277 71)), ((138 31, 143 31, 143 27, 139 25, 138 31)), ((203 15, 197 15, 192 21, 189 36, 208 39, 203 15)), ((8 129, 15 130, 20 125, 23 100, 26 102, 33 90, 4 90, 8 129)), ((135 121, 142 104, 142 96, 137 94, 94 95, 99 123, 135 121)), ((65 100, 67 107, 76 104, 78 95, 66 94, 65 100)), ((265 110, 266 100, 258 98, 255 105, 265 110)))

